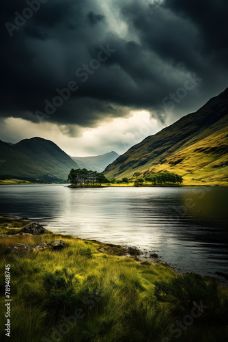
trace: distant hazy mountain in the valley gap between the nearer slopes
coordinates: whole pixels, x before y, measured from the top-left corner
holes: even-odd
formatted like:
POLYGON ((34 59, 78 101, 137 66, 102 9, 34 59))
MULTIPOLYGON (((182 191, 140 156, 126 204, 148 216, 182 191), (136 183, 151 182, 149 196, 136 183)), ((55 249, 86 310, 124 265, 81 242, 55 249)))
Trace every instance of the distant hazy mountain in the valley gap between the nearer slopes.
POLYGON ((105 153, 104 155, 96 155, 91 157, 71 157, 81 168, 87 168, 92 171, 102 172, 110 163, 117 159, 119 155, 114 151, 105 153))

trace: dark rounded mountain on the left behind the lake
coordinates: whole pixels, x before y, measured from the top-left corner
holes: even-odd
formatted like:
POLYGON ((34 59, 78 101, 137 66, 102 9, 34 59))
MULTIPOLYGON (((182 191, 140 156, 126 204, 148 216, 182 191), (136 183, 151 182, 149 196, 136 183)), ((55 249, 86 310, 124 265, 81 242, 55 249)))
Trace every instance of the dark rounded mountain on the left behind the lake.
POLYGON ((0 177, 63 181, 71 168, 79 166, 61 148, 40 137, 14 146, 0 142, 0 177))

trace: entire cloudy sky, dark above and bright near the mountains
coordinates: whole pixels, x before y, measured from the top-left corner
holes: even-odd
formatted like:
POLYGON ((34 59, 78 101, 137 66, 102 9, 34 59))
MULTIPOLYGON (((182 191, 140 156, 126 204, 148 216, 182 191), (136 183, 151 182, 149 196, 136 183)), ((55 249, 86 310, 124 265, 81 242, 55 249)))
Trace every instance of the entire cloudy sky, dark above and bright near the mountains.
POLYGON ((227 0, 2 0, 0 140, 122 154, 228 87, 227 0))

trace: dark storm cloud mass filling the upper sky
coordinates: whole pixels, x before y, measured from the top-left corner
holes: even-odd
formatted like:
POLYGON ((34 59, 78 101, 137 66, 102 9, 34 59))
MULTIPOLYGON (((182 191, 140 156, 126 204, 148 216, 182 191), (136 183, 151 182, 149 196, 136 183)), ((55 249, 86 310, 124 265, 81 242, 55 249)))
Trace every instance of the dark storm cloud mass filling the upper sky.
POLYGON ((106 1, 107 11, 95 0, 48 0, 10 37, 5 23, 15 24, 28 5, 3 0, 1 116, 37 122, 35 111, 70 81, 79 89, 46 120, 93 127, 129 109, 156 109, 164 120, 162 100, 186 75, 203 82, 175 108, 184 113, 226 88, 227 1, 166 0, 154 11, 151 3, 106 1), (76 77, 107 44, 115 52, 86 81, 76 77))

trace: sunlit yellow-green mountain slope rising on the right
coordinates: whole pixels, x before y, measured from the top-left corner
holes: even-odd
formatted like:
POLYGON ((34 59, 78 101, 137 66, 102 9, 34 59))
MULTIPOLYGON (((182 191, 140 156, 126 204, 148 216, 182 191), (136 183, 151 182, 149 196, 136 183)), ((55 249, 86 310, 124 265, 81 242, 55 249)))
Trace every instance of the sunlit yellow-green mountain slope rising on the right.
POLYGON ((227 184, 228 88, 195 113, 132 146, 105 170, 107 178, 175 172, 188 184, 227 184))

